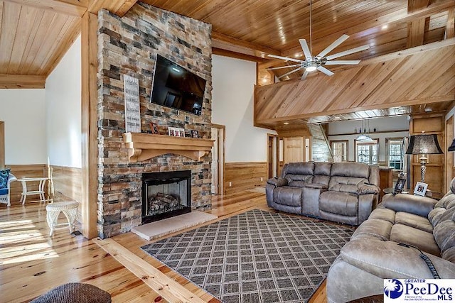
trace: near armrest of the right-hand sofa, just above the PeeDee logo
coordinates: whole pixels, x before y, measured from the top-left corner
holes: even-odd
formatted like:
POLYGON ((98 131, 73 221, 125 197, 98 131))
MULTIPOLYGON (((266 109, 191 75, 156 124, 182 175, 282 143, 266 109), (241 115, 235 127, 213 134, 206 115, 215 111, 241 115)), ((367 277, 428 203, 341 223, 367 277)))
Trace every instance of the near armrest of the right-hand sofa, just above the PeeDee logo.
MULTIPOLYGON (((341 258, 371 274, 390 278, 432 279, 427 263, 420 258, 419 250, 399 246, 393 241, 356 239, 348 242, 340 252, 341 258)), ((442 279, 455 277, 455 264, 426 253, 442 279)))

